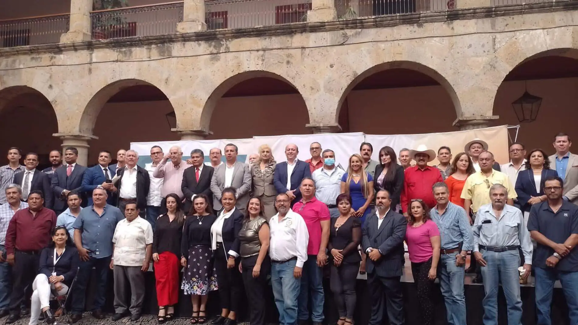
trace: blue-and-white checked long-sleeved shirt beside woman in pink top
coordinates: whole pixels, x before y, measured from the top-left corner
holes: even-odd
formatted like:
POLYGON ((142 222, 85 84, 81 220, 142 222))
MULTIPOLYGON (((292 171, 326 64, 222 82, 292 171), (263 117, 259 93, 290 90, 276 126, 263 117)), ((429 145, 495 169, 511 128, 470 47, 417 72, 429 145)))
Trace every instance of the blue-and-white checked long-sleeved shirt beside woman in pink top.
POLYGON ((442 249, 453 249, 463 242, 462 250, 472 250, 473 236, 468 216, 464 208, 451 202, 447 203, 446 210, 439 215, 438 206, 429 212, 432 220, 438 225, 442 236, 442 249))

